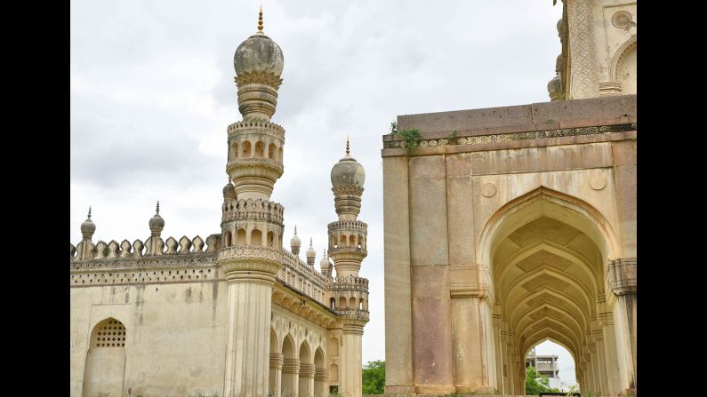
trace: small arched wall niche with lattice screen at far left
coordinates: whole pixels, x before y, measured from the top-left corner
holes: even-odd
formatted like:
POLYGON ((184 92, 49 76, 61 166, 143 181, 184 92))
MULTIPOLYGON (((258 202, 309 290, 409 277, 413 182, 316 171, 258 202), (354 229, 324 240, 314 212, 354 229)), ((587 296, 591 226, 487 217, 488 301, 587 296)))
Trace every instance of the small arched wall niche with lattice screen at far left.
POLYGON ((84 397, 123 395, 125 337, 125 325, 112 317, 93 327, 86 353, 84 397))

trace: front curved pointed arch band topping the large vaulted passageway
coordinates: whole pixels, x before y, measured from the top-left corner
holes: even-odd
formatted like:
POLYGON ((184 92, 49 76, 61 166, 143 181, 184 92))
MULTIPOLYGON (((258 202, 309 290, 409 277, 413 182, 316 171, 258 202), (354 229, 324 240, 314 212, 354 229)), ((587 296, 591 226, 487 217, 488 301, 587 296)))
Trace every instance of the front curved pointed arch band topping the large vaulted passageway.
POLYGON ((486 220, 486 224, 478 236, 477 263, 490 265, 494 250, 499 242, 502 242, 518 227, 543 215, 573 226, 587 234, 597 244, 605 259, 622 258, 622 248, 618 236, 608 219, 599 210, 574 195, 567 195, 541 185, 519 195, 510 202, 506 202, 486 220), (545 203, 550 205, 544 205, 545 203), (538 204, 542 205, 542 208, 533 218, 533 214, 528 214, 527 210, 533 210, 532 206, 538 204), (520 218, 523 221, 509 222, 515 218, 520 218), (570 223, 567 221, 568 218, 574 218, 578 222, 570 223))

